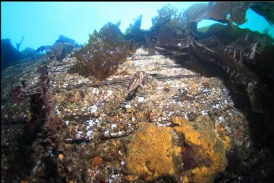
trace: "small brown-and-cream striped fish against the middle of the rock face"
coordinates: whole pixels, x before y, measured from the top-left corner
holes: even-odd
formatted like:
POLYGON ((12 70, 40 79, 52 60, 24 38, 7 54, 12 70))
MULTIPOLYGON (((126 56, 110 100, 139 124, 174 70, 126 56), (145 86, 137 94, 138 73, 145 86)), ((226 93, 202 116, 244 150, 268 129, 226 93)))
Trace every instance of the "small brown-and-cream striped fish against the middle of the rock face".
POLYGON ((136 73, 133 73, 130 77, 130 87, 128 87, 128 96, 132 96, 132 94, 135 92, 135 90, 140 86, 144 87, 144 78, 146 77, 146 74, 144 71, 137 71, 136 73))

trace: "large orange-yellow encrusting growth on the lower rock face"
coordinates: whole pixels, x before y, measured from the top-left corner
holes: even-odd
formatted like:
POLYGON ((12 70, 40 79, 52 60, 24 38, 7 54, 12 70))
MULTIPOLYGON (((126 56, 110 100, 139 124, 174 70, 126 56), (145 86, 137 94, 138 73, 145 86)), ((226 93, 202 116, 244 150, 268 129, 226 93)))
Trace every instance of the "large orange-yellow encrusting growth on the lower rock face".
POLYGON ((172 122, 179 126, 139 124, 139 130, 130 137, 127 147, 125 172, 128 175, 125 180, 181 175, 184 182, 213 182, 218 173, 224 172, 228 164, 226 152, 231 148, 230 138, 215 132, 209 117, 198 117, 196 122, 173 117, 172 122), (179 137, 184 137, 181 139, 184 147, 175 142, 178 133, 179 137), (187 153, 189 148, 193 149, 194 157, 187 153), (195 160, 194 165, 187 164, 190 159, 195 160), (183 168, 179 168, 181 163, 183 168))

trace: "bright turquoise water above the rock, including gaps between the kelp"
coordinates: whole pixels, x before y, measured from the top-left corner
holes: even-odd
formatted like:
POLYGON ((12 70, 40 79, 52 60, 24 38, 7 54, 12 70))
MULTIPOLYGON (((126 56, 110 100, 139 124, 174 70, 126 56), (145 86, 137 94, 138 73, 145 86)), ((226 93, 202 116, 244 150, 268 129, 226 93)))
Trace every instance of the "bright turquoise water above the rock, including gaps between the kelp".
MULTIPOLYGON (((107 22, 121 20, 121 31, 125 31, 138 15, 143 15, 141 28, 149 29, 151 17, 168 3, 181 11, 199 2, 1 2, 1 38, 11 38, 15 46, 24 36, 20 50, 53 45, 60 34, 83 44, 88 41, 88 34, 107 22)), ((241 28, 263 32, 269 27, 252 10, 247 11, 247 20, 241 28)), ((198 28, 213 23, 203 20, 198 28)), ((274 36, 274 28, 269 28, 269 34, 274 36)))

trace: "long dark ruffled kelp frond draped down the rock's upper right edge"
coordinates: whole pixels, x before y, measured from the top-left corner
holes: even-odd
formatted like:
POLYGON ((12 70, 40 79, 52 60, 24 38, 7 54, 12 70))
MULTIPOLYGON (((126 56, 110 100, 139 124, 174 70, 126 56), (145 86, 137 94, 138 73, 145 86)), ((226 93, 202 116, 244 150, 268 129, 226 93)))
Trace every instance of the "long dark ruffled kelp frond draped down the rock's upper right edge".
POLYGON ((256 43, 251 47, 249 43, 245 49, 237 49, 237 46, 237 43, 232 43, 211 49, 189 37, 187 41, 178 45, 158 45, 156 50, 168 57, 183 56, 185 59, 189 59, 189 55, 193 55, 199 61, 216 66, 217 69, 224 71, 233 82, 246 89, 252 110, 263 112, 261 94, 267 93, 266 87, 263 87, 263 82, 256 73, 246 66, 246 64, 254 62, 256 43), (248 53, 250 50, 252 52, 248 53))

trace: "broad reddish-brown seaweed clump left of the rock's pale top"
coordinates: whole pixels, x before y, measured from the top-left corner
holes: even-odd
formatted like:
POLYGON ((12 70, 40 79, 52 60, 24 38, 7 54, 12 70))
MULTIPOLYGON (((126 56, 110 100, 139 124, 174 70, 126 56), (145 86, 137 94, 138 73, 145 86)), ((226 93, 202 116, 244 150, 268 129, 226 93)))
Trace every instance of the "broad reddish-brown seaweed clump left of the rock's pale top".
POLYGON ((88 45, 75 52, 78 64, 74 70, 85 77, 93 75, 99 80, 115 73, 118 64, 135 52, 132 41, 126 41, 123 36, 116 24, 111 22, 105 24, 99 33, 94 31, 88 45))

